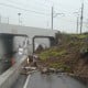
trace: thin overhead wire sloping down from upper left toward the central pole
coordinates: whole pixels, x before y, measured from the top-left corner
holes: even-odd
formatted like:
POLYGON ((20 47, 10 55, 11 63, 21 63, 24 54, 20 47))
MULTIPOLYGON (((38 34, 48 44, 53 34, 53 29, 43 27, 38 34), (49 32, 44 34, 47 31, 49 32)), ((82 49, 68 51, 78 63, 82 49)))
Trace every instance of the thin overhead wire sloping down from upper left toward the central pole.
POLYGON ((43 15, 50 15, 50 14, 44 13, 44 12, 38 12, 38 11, 34 11, 34 10, 26 10, 26 9, 22 9, 22 8, 19 8, 19 7, 12 6, 12 4, 0 3, 0 6, 4 6, 4 7, 9 7, 9 8, 13 8, 13 9, 19 9, 19 10, 23 10, 23 11, 28 11, 28 12, 34 12, 34 13, 43 14, 43 15))

